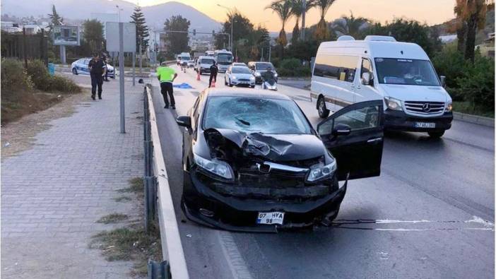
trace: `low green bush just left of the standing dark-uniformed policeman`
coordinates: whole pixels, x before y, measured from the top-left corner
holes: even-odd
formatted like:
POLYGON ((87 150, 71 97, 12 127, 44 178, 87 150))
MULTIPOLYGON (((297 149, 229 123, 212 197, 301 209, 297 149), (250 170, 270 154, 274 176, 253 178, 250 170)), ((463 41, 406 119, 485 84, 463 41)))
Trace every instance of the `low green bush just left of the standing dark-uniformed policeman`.
POLYGON ((50 76, 47 66, 41 60, 28 61, 27 73, 38 90, 60 91, 61 93, 81 92, 81 88, 69 78, 50 76))

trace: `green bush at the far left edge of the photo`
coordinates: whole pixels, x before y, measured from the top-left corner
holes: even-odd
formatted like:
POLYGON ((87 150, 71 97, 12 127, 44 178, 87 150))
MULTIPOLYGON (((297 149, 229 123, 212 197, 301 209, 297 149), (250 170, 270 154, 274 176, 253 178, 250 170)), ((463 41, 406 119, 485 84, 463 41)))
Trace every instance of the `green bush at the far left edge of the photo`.
POLYGON ((22 62, 17 59, 1 59, 2 95, 18 90, 33 90, 33 81, 26 73, 22 62))

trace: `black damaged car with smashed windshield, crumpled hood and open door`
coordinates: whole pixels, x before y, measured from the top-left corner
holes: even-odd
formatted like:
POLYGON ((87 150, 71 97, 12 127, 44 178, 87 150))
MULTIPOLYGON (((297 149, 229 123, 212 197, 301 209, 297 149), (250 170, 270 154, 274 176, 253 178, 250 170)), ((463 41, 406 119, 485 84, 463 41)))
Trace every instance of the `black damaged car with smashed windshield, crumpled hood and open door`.
POLYGON ((380 174, 382 106, 350 105, 315 131, 285 95, 203 91, 188 115, 177 117, 185 127, 184 214, 237 231, 330 225, 348 179, 380 174))

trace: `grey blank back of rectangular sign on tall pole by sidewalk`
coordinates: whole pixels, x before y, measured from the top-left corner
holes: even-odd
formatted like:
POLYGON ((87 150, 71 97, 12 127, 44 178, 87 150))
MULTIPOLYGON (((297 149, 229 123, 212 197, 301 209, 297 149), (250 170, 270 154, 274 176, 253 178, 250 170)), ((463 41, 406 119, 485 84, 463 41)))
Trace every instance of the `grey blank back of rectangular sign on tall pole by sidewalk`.
MULTIPOLYGON (((136 24, 122 23, 124 25, 124 52, 136 52, 136 24)), ((107 52, 119 52, 119 23, 106 23, 107 52)))

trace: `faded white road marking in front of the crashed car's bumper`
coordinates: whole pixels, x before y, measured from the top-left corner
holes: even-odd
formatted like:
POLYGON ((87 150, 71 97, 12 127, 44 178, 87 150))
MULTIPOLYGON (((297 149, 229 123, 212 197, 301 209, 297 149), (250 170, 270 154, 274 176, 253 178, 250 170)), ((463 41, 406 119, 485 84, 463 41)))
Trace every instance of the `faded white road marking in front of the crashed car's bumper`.
POLYGON ((224 254, 224 258, 228 261, 229 269, 232 273, 232 278, 236 279, 251 279, 247 264, 244 262, 240 251, 237 249, 236 243, 230 232, 217 231, 220 246, 224 254))

